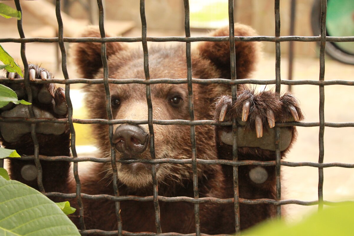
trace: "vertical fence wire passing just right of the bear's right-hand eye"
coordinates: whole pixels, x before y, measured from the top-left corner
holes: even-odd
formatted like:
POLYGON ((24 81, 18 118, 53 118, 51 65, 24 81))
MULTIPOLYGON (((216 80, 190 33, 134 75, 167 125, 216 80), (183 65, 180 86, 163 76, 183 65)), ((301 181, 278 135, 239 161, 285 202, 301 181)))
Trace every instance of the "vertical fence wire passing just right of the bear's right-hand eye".
MULTIPOLYGON (((184 0, 184 30, 185 36, 190 37, 189 25, 189 0, 184 0)), ((188 81, 188 110, 190 120, 194 120, 193 84, 192 84, 192 58, 190 42, 185 43, 185 54, 187 58, 187 81, 188 81)), ((194 198, 199 198, 198 191, 198 170, 196 162, 195 126, 190 126, 190 142, 192 144, 192 169, 193 169, 193 192, 194 198)), ((195 234, 200 236, 199 203, 194 203, 195 234)))

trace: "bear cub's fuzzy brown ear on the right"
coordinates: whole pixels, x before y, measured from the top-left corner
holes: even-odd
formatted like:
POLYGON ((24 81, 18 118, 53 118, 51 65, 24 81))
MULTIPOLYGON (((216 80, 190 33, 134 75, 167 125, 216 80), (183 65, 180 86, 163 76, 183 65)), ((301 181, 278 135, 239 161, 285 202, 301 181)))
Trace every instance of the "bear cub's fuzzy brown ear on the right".
MULTIPOLYGON (((235 24, 235 36, 255 36, 256 32, 251 27, 235 24)), ((229 36, 229 28, 224 27, 210 34, 210 36, 229 36)), ((259 42, 235 41, 236 76, 245 79, 255 70, 261 49, 259 42)), ((221 71, 221 78, 230 79, 230 44, 229 42, 202 42, 198 45, 199 54, 209 59, 221 71)))

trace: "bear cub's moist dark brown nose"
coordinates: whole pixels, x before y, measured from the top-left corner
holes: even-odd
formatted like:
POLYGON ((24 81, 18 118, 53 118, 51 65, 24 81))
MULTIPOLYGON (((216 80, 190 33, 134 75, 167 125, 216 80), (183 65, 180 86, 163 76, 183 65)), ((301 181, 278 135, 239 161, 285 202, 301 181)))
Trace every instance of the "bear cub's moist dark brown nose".
POLYGON ((112 142, 123 154, 139 154, 148 146, 149 134, 137 125, 121 125, 115 129, 112 142))

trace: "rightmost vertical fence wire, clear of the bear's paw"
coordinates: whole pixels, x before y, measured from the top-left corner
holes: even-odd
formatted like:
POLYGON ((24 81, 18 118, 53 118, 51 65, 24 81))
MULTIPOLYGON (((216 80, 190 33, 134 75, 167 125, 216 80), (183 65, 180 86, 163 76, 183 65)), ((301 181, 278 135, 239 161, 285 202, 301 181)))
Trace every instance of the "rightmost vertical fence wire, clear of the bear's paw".
MULTIPOLYGON (((320 76, 319 80, 325 80, 325 50, 326 50, 326 15, 327 0, 321 0, 321 41, 320 41, 320 76)), ((324 132, 325 132, 325 86, 319 86, 320 104, 319 119, 320 130, 318 135, 319 157, 318 162, 323 163, 324 150, 324 132)), ((318 209, 323 209, 323 168, 318 168, 318 209)))

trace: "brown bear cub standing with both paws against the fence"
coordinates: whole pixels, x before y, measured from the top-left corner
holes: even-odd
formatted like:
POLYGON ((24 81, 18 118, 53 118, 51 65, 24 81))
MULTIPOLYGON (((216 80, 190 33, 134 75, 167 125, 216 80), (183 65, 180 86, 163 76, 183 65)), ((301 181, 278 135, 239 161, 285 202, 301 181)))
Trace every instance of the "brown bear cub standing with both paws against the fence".
MULTIPOLYGON (((216 30, 212 36, 227 36, 228 28, 216 30)), ((235 35, 254 35, 254 31, 236 24, 235 35)), ((98 29, 89 28, 83 37, 100 37, 98 29)), ((257 42, 235 42, 236 74, 238 79, 248 78, 259 56, 257 42)), ((101 44, 78 43, 73 52, 82 78, 103 77, 101 44)), ((142 50, 132 50, 119 42, 107 43, 109 78, 145 79, 142 50)), ((185 46, 149 48, 151 79, 181 79, 187 77, 185 46)), ((230 48, 228 42, 201 42, 192 51, 193 78, 230 79, 230 48)), ((8 77, 19 76, 8 74, 8 77)), ((30 65, 30 78, 50 78, 45 69, 30 65)), ((8 83, 19 96, 26 99, 23 84, 8 83)), ((146 120, 148 117, 145 85, 109 84, 112 96, 113 119, 146 120)), ((103 84, 85 85, 85 100, 90 118, 108 119, 105 110, 106 97, 103 84)), ((63 90, 54 84, 34 84, 33 107, 37 117, 67 117, 63 90)), ((239 88, 237 101, 231 101, 230 85, 193 84, 195 120, 229 121, 235 117, 238 126, 239 160, 275 160, 275 122, 303 119, 297 100, 289 93, 264 91, 255 93, 239 88)), ((189 120, 188 90, 186 84, 151 85, 153 119, 189 120)), ((1 111, 6 117, 28 117, 23 105, 7 106, 1 111)), ((148 125, 114 125, 113 144, 117 160, 149 160, 148 125)), ((16 149, 21 155, 33 155, 34 145, 29 123, 8 125, 0 123, 1 141, 6 148, 16 149)), ((36 125, 39 154, 46 156, 70 156, 70 132, 67 124, 41 123, 36 125)), ((230 126, 196 126, 196 154, 198 159, 232 160, 232 132, 230 126)), ((110 155, 108 125, 97 124, 93 137, 101 150, 101 157, 110 155)), ((190 159, 190 127, 187 125, 156 125, 155 155, 157 159, 190 159)), ((281 128, 281 155, 289 150, 295 140, 294 127, 281 128)), ((38 189, 36 175, 26 171, 34 161, 10 160, 11 178, 38 189)), ((43 185, 46 192, 75 193, 75 181, 65 161, 41 161, 43 185)), ((152 196, 150 164, 120 163, 118 190, 120 196, 152 196)), ((199 197, 233 198, 232 166, 198 164, 199 197)), ((191 165, 161 163, 156 165, 160 196, 177 197, 193 195, 191 165)), ((275 167, 246 165, 239 167, 240 198, 275 199, 275 167)), ((84 194, 114 195, 111 163, 95 163, 89 171, 80 173, 81 192, 84 194)), ((72 205, 74 199, 68 199, 72 205)), ((56 201, 63 201, 62 198, 56 201)), ((86 229, 117 230, 115 202, 111 200, 83 199, 86 229)), ((194 204, 189 202, 159 201, 162 232, 189 234, 195 232, 194 204)), ((76 206, 77 207, 77 206, 76 206)), ((152 201, 121 201, 122 229, 129 232, 156 232, 155 211, 152 201)), ((78 215, 78 211, 75 213, 78 215)), ((246 229, 275 215, 275 206, 240 203, 241 229, 246 229)), ((200 231, 205 234, 232 234, 235 231, 234 204, 200 203, 200 231)), ((79 226, 78 218, 72 217, 79 226)))

